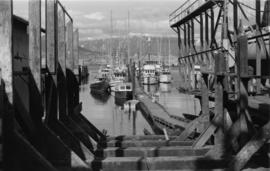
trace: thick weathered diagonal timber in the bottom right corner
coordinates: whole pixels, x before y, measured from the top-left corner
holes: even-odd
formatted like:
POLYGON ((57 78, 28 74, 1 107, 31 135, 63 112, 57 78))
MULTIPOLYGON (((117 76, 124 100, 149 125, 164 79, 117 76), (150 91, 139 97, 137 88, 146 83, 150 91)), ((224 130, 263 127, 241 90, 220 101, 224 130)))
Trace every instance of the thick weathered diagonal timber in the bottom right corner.
POLYGON ((241 170, 250 158, 270 139, 270 122, 264 125, 251 140, 237 153, 229 170, 241 170))

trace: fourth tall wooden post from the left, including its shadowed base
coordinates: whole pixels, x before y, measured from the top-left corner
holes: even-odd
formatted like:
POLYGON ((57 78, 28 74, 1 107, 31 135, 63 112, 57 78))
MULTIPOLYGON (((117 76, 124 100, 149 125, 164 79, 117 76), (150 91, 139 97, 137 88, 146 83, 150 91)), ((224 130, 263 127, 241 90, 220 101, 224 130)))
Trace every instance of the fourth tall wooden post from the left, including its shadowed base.
POLYGON ((65 14, 63 9, 58 9, 58 36, 57 36, 57 52, 58 52, 58 70, 57 70, 57 88, 58 88, 58 116, 67 114, 67 91, 66 91, 66 43, 65 43, 65 14))

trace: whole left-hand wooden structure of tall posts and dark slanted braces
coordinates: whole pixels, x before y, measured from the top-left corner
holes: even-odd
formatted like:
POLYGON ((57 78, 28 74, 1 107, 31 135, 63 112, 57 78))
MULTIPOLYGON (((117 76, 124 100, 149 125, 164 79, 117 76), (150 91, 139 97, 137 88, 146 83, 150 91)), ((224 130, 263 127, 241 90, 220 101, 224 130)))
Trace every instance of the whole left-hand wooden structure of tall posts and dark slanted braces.
POLYGON ((78 30, 58 0, 46 0, 45 29, 41 0, 28 5, 25 21, 0 1, 1 170, 90 169, 105 136, 80 114, 78 30))

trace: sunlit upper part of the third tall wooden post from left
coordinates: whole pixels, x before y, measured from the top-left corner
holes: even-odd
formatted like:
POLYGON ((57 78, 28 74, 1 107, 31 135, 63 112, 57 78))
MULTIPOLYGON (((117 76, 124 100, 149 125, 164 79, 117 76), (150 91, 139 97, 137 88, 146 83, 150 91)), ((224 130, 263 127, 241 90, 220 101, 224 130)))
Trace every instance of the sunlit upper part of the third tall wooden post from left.
POLYGON ((46 64, 50 73, 56 72, 56 4, 55 0, 46 1, 46 64))

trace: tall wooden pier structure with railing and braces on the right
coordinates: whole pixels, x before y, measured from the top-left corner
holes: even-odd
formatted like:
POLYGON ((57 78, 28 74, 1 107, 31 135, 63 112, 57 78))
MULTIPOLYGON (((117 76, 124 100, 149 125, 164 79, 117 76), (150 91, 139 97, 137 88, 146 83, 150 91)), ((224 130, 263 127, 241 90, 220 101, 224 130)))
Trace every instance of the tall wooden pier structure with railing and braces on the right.
POLYGON ((193 87, 197 87, 202 105, 201 116, 189 123, 178 139, 185 140, 192 131, 199 130, 200 136, 193 144, 197 148, 215 137, 212 154, 236 155, 231 161, 232 170, 246 167, 270 138, 270 1, 254 0, 253 6, 238 0, 193 0, 170 14, 170 26, 178 35, 183 88, 189 92, 187 87, 200 84, 193 87), (245 8, 254 11, 254 24, 245 8), (233 12, 230 20, 229 9, 233 12), (239 19, 238 11, 245 21, 239 19), (198 41, 195 41, 195 23, 198 41), (192 79, 195 65, 200 66, 200 80, 192 79), (251 66, 255 74, 250 72, 251 66), (210 98, 212 91, 215 95, 210 98), (249 94, 255 95, 255 99, 262 96, 264 100, 254 102, 249 94), (215 106, 210 115, 209 100, 212 99, 215 106))

